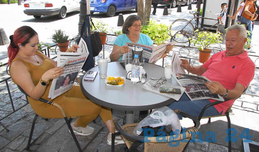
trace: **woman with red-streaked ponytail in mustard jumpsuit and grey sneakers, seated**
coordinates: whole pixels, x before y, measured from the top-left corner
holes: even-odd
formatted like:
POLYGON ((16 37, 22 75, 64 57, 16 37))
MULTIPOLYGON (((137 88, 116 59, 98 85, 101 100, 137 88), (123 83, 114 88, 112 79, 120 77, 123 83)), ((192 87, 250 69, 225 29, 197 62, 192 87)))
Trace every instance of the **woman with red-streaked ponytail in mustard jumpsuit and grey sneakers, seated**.
MULTIPOLYGON (((39 98, 56 102, 64 109, 67 117, 78 116, 71 126, 75 134, 83 136, 94 133, 94 128, 88 126, 88 123, 100 115, 110 132, 107 143, 111 145, 113 117, 110 108, 91 102, 84 96, 79 85, 74 85, 58 98, 48 98, 52 80, 62 75, 65 68, 57 67, 57 61, 37 51, 38 44, 37 32, 30 26, 21 26, 10 36, 8 47, 10 76, 28 94, 34 112, 44 118, 63 118, 58 108, 39 101, 39 98)), ((66 52, 76 52, 77 48, 79 47, 74 44, 66 52)), ((124 141, 116 136, 115 144, 119 143, 124 141)))

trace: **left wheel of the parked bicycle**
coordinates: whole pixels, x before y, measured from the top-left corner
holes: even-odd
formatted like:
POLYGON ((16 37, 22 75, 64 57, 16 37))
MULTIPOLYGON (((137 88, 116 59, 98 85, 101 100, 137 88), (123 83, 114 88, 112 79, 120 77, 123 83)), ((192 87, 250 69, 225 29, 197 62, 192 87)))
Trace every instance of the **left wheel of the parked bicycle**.
POLYGON ((169 34, 174 41, 186 43, 189 37, 193 37, 193 24, 186 19, 176 19, 169 28, 169 34))

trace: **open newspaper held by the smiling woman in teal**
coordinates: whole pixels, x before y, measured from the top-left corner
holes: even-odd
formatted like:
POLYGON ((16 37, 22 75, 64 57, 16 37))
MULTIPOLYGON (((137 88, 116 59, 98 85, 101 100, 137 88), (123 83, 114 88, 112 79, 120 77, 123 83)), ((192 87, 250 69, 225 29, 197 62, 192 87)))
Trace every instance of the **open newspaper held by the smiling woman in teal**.
MULTIPOLYGON (((133 48, 133 47, 140 47, 143 48, 143 53, 142 53, 142 57, 147 58, 148 59, 148 63, 153 63, 155 64, 157 62, 157 60, 159 60, 162 55, 164 54, 165 50, 166 50, 166 46, 168 45, 175 45, 176 42, 170 42, 170 43, 165 43, 165 44, 161 44, 158 46, 151 46, 151 45, 144 45, 144 44, 138 44, 138 43, 126 43, 126 46, 129 46, 129 48, 133 48)), ((131 51, 129 51, 129 53, 131 53, 131 51)), ((126 54, 123 54, 122 60, 124 60, 126 54)))

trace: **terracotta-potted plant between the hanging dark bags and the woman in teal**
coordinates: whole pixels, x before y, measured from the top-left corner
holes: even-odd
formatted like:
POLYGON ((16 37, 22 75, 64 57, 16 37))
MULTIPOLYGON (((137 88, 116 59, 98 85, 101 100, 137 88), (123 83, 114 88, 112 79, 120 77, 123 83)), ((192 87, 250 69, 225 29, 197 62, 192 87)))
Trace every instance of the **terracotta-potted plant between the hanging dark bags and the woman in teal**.
POLYGON ((105 24, 104 22, 101 22, 101 21, 95 21, 95 22, 96 24, 94 24, 95 27, 93 27, 93 31, 99 32, 102 45, 105 45, 108 24, 105 24))

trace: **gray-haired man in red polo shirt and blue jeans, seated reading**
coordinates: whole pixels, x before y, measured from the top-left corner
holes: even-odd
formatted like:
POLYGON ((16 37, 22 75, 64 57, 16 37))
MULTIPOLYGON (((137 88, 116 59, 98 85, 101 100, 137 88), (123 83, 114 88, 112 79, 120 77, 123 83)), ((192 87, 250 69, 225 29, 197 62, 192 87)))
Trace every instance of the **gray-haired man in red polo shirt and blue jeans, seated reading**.
MULTIPOLYGON (((190 66, 187 60, 181 59, 184 69, 188 72, 207 77, 212 82, 205 83, 212 94, 230 99, 209 107, 203 116, 216 116, 225 113, 239 98, 254 78, 255 65, 247 56, 244 44, 247 42, 247 32, 244 26, 232 25, 226 31, 226 50, 218 52, 200 66, 190 66)), ((198 117, 205 105, 215 102, 213 99, 191 101, 184 93, 179 101, 168 105, 198 117)), ((178 115, 179 119, 182 119, 178 115)))

